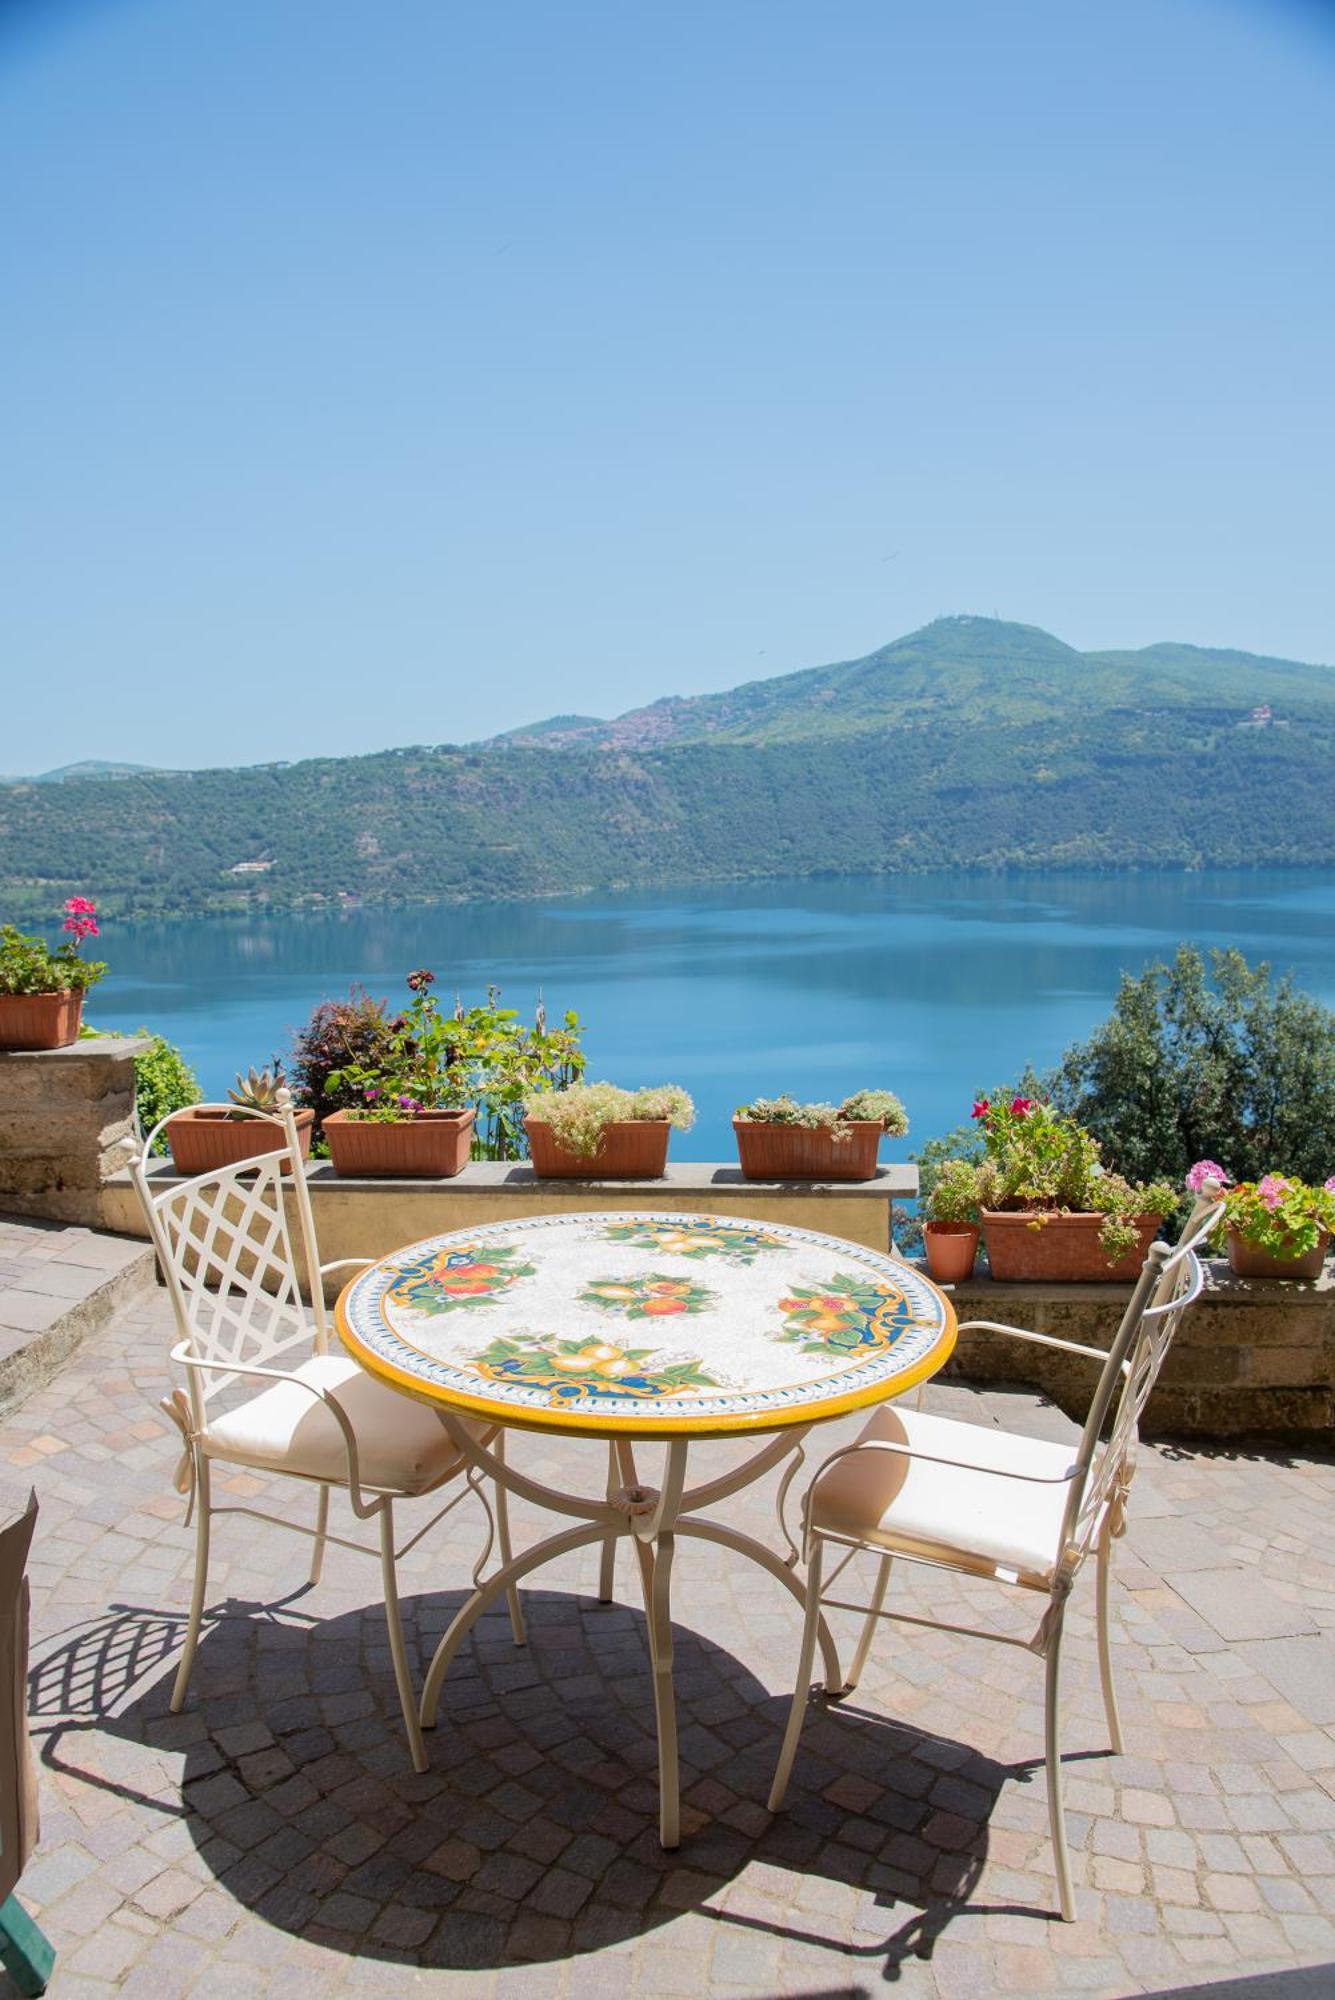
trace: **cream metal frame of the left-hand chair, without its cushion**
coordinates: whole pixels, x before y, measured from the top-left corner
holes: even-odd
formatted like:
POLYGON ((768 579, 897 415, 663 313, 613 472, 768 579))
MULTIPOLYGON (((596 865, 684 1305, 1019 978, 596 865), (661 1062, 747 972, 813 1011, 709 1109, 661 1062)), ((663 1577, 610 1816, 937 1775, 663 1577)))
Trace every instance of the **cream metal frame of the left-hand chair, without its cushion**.
MULTIPOLYGON (((474 1566, 474 1586, 492 1554, 492 1542, 500 1544, 502 1564, 514 1562, 510 1544, 510 1512, 504 1486, 494 1486, 494 1508, 484 1492, 482 1474, 476 1466, 458 1456, 442 1478, 428 1486, 408 1490, 366 1486, 358 1460, 358 1434, 348 1412, 332 1390, 316 1388, 292 1374, 292 1368, 272 1366, 284 1358, 310 1360, 312 1354, 330 1352, 330 1320, 324 1302, 324 1280, 342 1268, 366 1268, 370 1258, 338 1258, 320 1264, 316 1250, 316 1228, 310 1208, 310 1190, 302 1172, 302 1152, 292 1114, 292 1096, 280 1092, 280 1114, 268 1118, 264 1112, 246 1112, 264 1124, 278 1126, 272 1152, 242 1160, 236 1166, 198 1174, 192 1180, 170 1180, 154 1186, 150 1180, 152 1148, 166 1126, 166 1118, 154 1126, 136 1156, 130 1160, 130 1174, 138 1190, 162 1276, 172 1298, 176 1330, 180 1334, 172 1348, 172 1362, 186 1372, 186 1388, 172 1390, 162 1408, 182 1432, 184 1456, 176 1470, 176 1488, 188 1500, 186 1524, 194 1516, 196 1566, 194 1592, 190 1598, 190 1618, 186 1624, 186 1646, 172 1688, 172 1712, 180 1712, 204 1622, 204 1598, 208 1592, 210 1526, 220 1514, 250 1514, 294 1534, 314 1540, 310 1582, 320 1582, 324 1550, 328 1542, 338 1548, 352 1548, 360 1554, 380 1556, 384 1582, 386 1624, 390 1630, 390 1654, 394 1660, 394 1680, 408 1748, 414 1770, 428 1768, 418 1702, 408 1672, 408 1652, 404 1646, 404 1622, 398 1600, 398 1560, 428 1534, 438 1520, 444 1520, 460 1500, 476 1494, 488 1516, 488 1538, 474 1566), (302 1238, 302 1266, 310 1290, 310 1308, 302 1300, 300 1272, 294 1256, 292 1232, 284 1188, 292 1190, 302 1238), (214 1280, 210 1284, 210 1278, 214 1280), (268 1284, 266 1284, 268 1280, 268 1284), (222 1394, 228 1384, 254 1380, 256 1384, 284 1382, 322 1402, 330 1412, 346 1450, 346 1472, 338 1480, 316 1480, 296 1470, 284 1470, 284 1478, 318 1486, 316 1524, 288 1520, 282 1514, 268 1514, 252 1506, 216 1506, 210 1488, 212 1456, 226 1460, 226 1452, 210 1454, 208 1404, 222 1394), (394 1544, 394 1502, 418 1500, 438 1492, 452 1480, 462 1478, 462 1490, 446 1502, 402 1548, 394 1544), (358 1520, 378 1524, 378 1546, 352 1542, 330 1532, 330 1488, 338 1486, 348 1494, 348 1504, 358 1520)), ((202 1106, 204 1110, 238 1112, 234 1104, 202 1106)), ((504 1430, 490 1428, 480 1436, 490 1444, 498 1462, 506 1456, 504 1430)), ((276 1472, 278 1476, 278 1472, 276 1472)), ((516 1644, 524 1644, 524 1614, 518 1590, 508 1592, 510 1622, 516 1644)))

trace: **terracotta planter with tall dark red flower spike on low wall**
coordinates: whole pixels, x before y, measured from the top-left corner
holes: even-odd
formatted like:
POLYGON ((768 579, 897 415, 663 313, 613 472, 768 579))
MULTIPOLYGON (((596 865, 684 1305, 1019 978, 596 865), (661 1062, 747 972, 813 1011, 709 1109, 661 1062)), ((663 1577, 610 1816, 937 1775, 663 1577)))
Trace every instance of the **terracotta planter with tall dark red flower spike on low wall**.
POLYGON ((454 1048, 434 984, 434 972, 410 972, 412 1004, 388 1024, 374 1062, 328 1074, 328 1088, 356 1098, 324 1118, 336 1174, 452 1180, 468 1166, 474 1108, 450 1102, 454 1048))

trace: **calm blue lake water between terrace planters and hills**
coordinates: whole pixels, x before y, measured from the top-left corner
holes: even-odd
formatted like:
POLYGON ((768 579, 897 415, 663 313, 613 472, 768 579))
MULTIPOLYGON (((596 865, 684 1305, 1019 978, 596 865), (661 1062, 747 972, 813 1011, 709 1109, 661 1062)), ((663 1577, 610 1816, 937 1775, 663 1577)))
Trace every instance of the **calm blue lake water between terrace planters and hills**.
POLYGON ((749 1096, 897 1090, 907 1154, 967 1116, 975 1088, 1039 1068, 1107 1014, 1117 978, 1183 940, 1293 968, 1335 1004, 1335 874, 913 876, 765 882, 542 904, 354 910, 104 928, 108 1028, 178 1042, 208 1096, 286 1050, 310 1008, 362 982, 408 998, 488 982, 586 1022, 590 1074, 679 1082, 699 1120, 677 1158, 731 1158, 749 1096))

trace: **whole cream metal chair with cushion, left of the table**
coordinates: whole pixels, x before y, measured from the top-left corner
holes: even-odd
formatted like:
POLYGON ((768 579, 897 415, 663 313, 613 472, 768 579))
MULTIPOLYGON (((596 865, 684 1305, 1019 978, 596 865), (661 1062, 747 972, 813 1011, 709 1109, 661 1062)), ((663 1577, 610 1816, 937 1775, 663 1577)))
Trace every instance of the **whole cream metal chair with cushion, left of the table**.
MULTIPOLYGON (((130 1162, 176 1314, 180 1340, 172 1348, 172 1360, 186 1372, 186 1392, 176 1388, 162 1402, 186 1444, 176 1486, 190 1502, 186 1520, 194 1514, 196 1522, 194 1594, 172 1710, 180 1710, 186 1700, 200 1642, 210 1522, 216 1514, 250 1514, 314 1540, 312 1584, 320 1580, 326 1542, 380 1556, 390 1654, 408 1746, 414 1768, 426 1770, 428 1758, 404 1648, 396 1560, 468 1492, 476 1492, 482 1500, 488 1530, 492 1504, 482 1492, 480 1476, 468 1470, 432 1410, 384 1388, 350 1356, 330 1350, 324 1278, 344 1266, 366 1266, 370 1258, 320 1264, 292 1098, 284 1090, 278 1102, 278 1118, 248 1114, 276 1126, 272 1152, 192 1180, 154 1182, 148 1166, 154 1140, 166 1124, 162 1120, 130 1162), (300 1264, 284 1190, 290 1190, 298 1218, 300 1264), (310 1306, 302 1300, 302 1274, 310 1306), (258 1394, 244 1400, 228 1398, 230 1388, 246 1382, 254 1382, 258 1394), (316 1486, 314 1528, 260 1508, 216 1506, 210 1494, 214 1460, 316 1486), (462 1482, 460 1492, 396 1550, 394 1502, 422 1498, 452 1480, 462 1482), (330 1534, 332 1488, 348 1494, 358 1520, 378 1522, 378 1548, 330 1534)), ((236 1112, 236 1106, 204 1108, 236 1112)), ((502 1452, 504 1436, 498 1436, 496 1428, 478 1426, 478 1436, 502 1452)), ((510 1562, 510 1520, 502 1488, 496 1488, 494 1510, 502 1562, 510 1562)), ((480 1578, 490 1550, 492 1532, 474 1580, 480 1578)), ((514 1590, 510 1620, 516 1644, 524 1644, 524 1620, 514 1590)))

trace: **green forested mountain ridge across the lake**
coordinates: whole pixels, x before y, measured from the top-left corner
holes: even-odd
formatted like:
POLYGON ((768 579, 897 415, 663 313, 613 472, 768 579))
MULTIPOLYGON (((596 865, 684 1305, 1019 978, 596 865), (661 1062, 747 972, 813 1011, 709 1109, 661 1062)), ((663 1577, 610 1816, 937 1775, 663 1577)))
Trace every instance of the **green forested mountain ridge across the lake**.
POLYGON ((1335 864, 1335 672, 939 618, 488 744, 0 784, 0 912, 556 896, 925 868, 1335 864))

